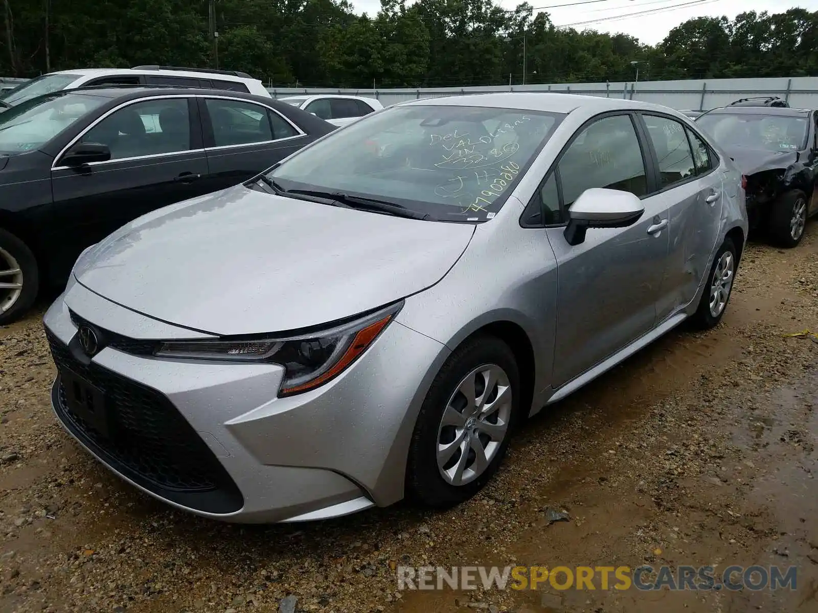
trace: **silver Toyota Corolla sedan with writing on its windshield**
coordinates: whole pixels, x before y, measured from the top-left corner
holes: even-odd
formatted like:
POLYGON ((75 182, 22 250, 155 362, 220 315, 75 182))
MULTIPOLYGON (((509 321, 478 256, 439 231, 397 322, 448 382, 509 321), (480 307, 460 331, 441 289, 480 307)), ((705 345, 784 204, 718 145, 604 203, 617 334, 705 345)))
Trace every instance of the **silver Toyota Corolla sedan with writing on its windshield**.
POLYGON ((54 410, 119 477, 205 517, 451 506, 524 418, 721 320, 741 179, 663 106, 390 107, 85 251, 45 316, 54 410))

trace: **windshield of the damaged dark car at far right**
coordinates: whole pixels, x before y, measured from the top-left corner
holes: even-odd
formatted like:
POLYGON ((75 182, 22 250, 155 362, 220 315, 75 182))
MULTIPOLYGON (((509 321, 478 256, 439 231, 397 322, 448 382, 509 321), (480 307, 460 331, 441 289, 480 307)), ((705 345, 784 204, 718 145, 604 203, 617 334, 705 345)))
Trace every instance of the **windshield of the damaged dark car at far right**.
POLYGON ((719 145, 800 150, 807 145, 806 118, 781 115, 708 113, 696 123, 712 134, 719 145))

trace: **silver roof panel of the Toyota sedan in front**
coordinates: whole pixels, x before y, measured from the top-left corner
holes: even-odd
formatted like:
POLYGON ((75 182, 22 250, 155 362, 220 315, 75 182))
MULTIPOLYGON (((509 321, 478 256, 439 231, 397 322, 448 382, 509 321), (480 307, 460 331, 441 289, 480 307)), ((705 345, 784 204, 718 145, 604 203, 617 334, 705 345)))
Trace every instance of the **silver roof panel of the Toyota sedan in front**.
MULTIPOLYGON (((451 106, 485 106, 497 109, 542 110, 551 113, 568 114, 580 107, 595 112, 606 110, 658 110, 667 113, 667 106, 654 105, 649 102, 622 100, 622 98, 603 98, 601 96, 583 96, 581 94, 562 94, 552 92, 497 92, 492 94, 474 94, 467 96, 445 96, 440 98, 420 98, 399 103, 401 106, 451 105, 451 106)), ((678 113, 678 111, 675 111, 678 113)))

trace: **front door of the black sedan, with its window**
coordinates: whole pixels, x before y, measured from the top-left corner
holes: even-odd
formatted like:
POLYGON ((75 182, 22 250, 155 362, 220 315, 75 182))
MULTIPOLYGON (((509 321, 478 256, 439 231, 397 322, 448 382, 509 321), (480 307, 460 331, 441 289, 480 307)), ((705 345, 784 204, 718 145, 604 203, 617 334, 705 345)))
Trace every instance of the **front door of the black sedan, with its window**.
POLYGON ((52 167, 52 226, 61 228, 65 261, 73 263, 91 241, 143 213, 205 193, 200 179, 207 172, 191 98, 130 101, 103 115, 65 147, 52 167), (107 145, 111 159, 67 167, 62 159, 77 142, 107 145))

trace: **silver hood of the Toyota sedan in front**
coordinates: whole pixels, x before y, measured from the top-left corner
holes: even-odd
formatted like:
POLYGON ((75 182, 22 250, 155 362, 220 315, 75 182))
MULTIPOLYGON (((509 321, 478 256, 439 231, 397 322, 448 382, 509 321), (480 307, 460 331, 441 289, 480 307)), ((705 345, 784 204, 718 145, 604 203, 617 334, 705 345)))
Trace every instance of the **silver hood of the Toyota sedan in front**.
POLYGON ((140 217, 74 266, 133 311, 220 335, 326 324, 438 282, 474 234, 245 186, 140 217))

